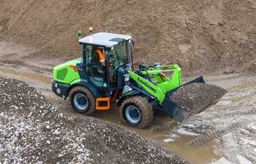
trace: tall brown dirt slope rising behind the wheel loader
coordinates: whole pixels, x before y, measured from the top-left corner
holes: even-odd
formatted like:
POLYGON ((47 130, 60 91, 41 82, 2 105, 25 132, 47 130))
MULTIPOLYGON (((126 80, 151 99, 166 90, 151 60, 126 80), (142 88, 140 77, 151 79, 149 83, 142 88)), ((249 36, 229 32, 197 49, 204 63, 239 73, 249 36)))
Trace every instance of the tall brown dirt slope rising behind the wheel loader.
POLYGON ((36 47, 26 60, 80 56, 75 32, 90 26, 134 35, 136 62, 145 56, 148 63, 174 62, 187 73, 243 70, 255 60, 252 0, 12 0, 0 6, 1 40, 36 47))

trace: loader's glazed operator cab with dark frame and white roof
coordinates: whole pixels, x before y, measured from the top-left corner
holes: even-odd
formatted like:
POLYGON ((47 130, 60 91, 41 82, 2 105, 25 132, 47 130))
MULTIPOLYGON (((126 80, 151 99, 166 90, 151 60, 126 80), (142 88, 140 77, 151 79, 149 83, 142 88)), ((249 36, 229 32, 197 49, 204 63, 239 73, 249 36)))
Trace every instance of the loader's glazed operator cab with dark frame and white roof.
POLYGON ((88 79, 99 89, 113 91, 118 86, 117 70, 122 65, 132 68, 132 37, 98 32, 80 38, 82 65, 88 79), (104 63, 97 62, 97 50, 102 50, 104 63))

